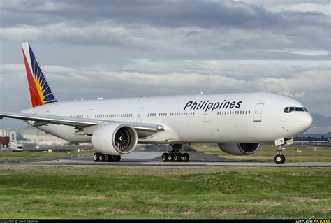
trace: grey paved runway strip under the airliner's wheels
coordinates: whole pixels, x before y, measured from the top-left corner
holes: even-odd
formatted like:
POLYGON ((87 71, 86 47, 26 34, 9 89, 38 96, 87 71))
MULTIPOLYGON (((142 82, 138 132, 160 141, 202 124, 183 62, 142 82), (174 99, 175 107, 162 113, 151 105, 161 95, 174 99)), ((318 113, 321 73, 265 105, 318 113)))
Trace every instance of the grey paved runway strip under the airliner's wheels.
POLYGON ((119 163, 94 162, 91 156, 84 157, 55 157, 38 158, 29 160, 1 161, 0 164, 34 164, 34 165, 99 165, 99 166, 265 166, 265 167, 325 167, 330 168, 331 162, 286 162, 275 164, 274 162, 233 161, 223 157, 205 154, 202 152, 189 152, 190 161, 163 162, 163 152, 131 152, 122 156, 119 163))

